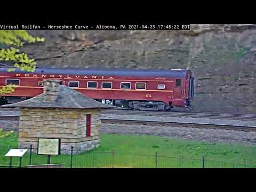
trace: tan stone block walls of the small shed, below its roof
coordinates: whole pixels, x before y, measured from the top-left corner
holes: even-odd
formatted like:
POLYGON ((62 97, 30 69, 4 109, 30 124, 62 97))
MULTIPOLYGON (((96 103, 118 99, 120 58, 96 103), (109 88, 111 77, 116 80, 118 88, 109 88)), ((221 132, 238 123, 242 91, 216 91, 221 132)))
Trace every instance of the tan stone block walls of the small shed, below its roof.
POLYGON ((100 109, 20 109, 19 147, 33 145, 38 138, 61 138, 61 153, 81 153, 99 146, 100 109), (91 114, 91 137, 86 137, 86 115, 91 114))

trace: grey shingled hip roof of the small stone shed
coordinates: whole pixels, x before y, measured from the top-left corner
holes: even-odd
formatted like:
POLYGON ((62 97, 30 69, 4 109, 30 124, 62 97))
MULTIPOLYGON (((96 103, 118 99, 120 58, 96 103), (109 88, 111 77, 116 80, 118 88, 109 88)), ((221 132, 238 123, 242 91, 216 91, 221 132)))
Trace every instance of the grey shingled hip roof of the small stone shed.
POLYGON ((88 98, 84 94, 70 89, 66 85, 58 86, 58 95, 56 95, 56 98, 53 100, 49 99, 49 94, 44 92, 34 98, 10 105, 3 105, 2 107, 69 109, 115 108, 114 106, 107 106, 103 103, 88 98))

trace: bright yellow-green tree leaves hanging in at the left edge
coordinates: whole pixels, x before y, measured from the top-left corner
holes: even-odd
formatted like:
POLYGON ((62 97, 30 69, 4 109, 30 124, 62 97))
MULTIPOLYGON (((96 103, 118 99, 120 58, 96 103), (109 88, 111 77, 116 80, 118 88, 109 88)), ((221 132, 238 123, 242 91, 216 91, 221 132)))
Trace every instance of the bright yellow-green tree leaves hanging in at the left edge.
MULTIPOLYGON (((44 38, 33 37, 27 33, 26 30, 0 30, 0 61, 14 61, 14 67, 9 69, 9 72, 14 71, 16 68, 33 72, 36 68, 35 59, 29 58, 28 54, 20 53, 17 47, 23 45, 24 42, 35 43, 44 42, 44 38), (11 46, 10 49, 4 49, 2 45, 11 46)), ((6 86, 0 89, 0 94, 12 93, 14 88, 6 86)))

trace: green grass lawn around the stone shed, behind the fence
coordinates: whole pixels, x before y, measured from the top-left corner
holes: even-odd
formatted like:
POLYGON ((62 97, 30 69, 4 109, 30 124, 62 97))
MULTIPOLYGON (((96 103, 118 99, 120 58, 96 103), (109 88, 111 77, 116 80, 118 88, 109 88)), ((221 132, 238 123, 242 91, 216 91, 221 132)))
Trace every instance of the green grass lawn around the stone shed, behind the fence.
MULTIPOLYGON (((17 135, 0 138, 0 165, 9 164, 3 157, 7 146, 17 147, 17 135)), ((119 134, 102 134, 99 148, 73 156, 73 167, 155 167, 156 161, 157 167, 202 167, 203 155, 205 167, 256 167, 256 146, 119 134)), ((46 156, 32 155, 32 164, 46 162, 46 156)), ((26 154, 22 166, 28 163, 26 154)), ((51 163, 69 167, 70 155, 52 156, 51 163)), ((14 158, 13 164, 19 165, 19 159, 14 158)))

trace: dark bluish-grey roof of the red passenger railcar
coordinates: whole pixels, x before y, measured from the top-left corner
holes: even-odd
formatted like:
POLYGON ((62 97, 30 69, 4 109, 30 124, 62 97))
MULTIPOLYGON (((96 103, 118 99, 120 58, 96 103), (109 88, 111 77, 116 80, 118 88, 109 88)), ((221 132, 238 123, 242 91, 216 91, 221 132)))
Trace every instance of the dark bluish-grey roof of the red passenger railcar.
MULTIPOLYGON (((1 67, 1 72, 7 72, 1 67)), ((37 74, 63 74, 63 75, 94 75, 94 76, 126 76, 126 77, 185 77, 186 69, 119 69, 119 68, 36 68, 37 74)), ((29 73, 16 69, 14 73, 29 73)))

